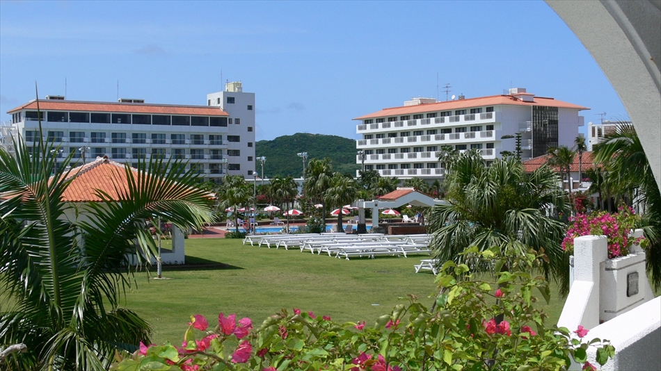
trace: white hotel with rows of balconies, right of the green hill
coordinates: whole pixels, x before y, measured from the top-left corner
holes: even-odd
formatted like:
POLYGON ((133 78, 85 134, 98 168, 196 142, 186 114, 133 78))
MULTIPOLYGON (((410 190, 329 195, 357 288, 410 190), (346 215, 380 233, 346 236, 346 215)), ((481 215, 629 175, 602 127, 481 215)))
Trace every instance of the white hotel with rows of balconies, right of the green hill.
MULTIPOLYGON (((363 139, 356 149, 364 151, 365 170, 397 178, 438 179, 445 174, 438 155, 442 147, 459 151, 479 149, 485 160, 501 157, 501 151, 516 152, 516 140, 504 135, 522 135, 522 158, 542 156, 550 147, 573 146, 589 108, 535 97, 523 88, 509 94, 437 102, 417 98, 404 106, 384 108, 360 120, 357 133, 363 139)), ((361 164, 363 156, 356 156, 361 164)))

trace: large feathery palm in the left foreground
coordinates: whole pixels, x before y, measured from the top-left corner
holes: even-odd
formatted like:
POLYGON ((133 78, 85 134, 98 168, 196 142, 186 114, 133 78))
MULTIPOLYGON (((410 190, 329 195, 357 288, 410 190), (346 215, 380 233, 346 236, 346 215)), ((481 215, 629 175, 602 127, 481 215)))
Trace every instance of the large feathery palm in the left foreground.
POLYGON ((150 335, 120 306, 137 269, 129 257, 156 249, 147 220, 198 228, 212 220, 212 200, 191 172, 166 172, 157 159, 137 172, 127 166, 128 187, 116 183, 116 199, 97 192, 102 201, 74 210, 61 201, 71 156, 57 166, 52 143, 33 153, 20 139, 14 147, 0 148, 0 287, 14 303, 0 313, 0 344, 28 350, 3 370, 106 370, 116 350, 134 352, 150 335), (83 221, 67 217, 79 212, 83 221))

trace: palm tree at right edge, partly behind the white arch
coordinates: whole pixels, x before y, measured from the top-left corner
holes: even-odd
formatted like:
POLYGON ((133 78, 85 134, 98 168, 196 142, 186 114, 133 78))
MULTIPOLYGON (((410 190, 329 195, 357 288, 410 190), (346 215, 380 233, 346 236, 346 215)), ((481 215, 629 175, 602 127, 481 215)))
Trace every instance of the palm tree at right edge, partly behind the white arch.
POLYGON ((605 183, 620 192, 641 193, 639 202, 646 204, 644 221, 647 271, 655 287, 661 286, 661 192, 643 151, 638 135, 631 124, 620 124, 614 133, 605 135, 594 145, 594 160, 605 166, 605 183))

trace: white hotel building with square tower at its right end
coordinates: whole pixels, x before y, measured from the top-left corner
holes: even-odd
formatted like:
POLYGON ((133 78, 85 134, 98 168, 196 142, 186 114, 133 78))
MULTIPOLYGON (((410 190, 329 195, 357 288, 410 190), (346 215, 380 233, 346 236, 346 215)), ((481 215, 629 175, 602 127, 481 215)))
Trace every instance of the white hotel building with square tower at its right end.
MULTIPOLYGON (((48 96, 39 101, 45 140, 86 162, 97 156, 137 165, 138 159, 162 156, 189 161, 205 180, 225 174, 252 175, 255 169, 255 94, 241 83, 207 94, 207 106, 147 104, 141 99, 118 102, 68 101, 48 96), (84 158, 83 158, 84 156, 84 158)), ((18 133, 28 147, 38 135, 37 102, 8 111, 5 132, 18 133), (8 130, 9 129, 9 130, 8 130)), ((5 138, 4 145, 8 145, 5 138)))

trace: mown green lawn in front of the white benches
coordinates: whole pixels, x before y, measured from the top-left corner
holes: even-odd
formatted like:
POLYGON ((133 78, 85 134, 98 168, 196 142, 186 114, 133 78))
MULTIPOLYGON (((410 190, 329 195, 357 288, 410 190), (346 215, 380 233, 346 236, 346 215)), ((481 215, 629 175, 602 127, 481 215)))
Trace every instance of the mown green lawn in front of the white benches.
MULTIPOLYGON (((156 343, 181 341, 186 322, 196 313, 210 324, 216 323, 219 312, 237 313, 237 318, 260 324, 280 308, 296 307, 340 322, 366 320, 373 325, 407 294, 431 306, 434 277, 431 272, 415 273, 413 265, 420 258, 424 256, 346 261, 298 249, 244 246, 241 240, 189 239, 187 263, 225 266, 164 267, 164 280, 138 274, 138 287, 127 293, 126 305, 153 325, 156 343)), ((151 275, 156 277, 155 267, 151 275)), ((553 292, 551 305, 542 306, 550 322, 557 321, 563 303, 553 292)))

